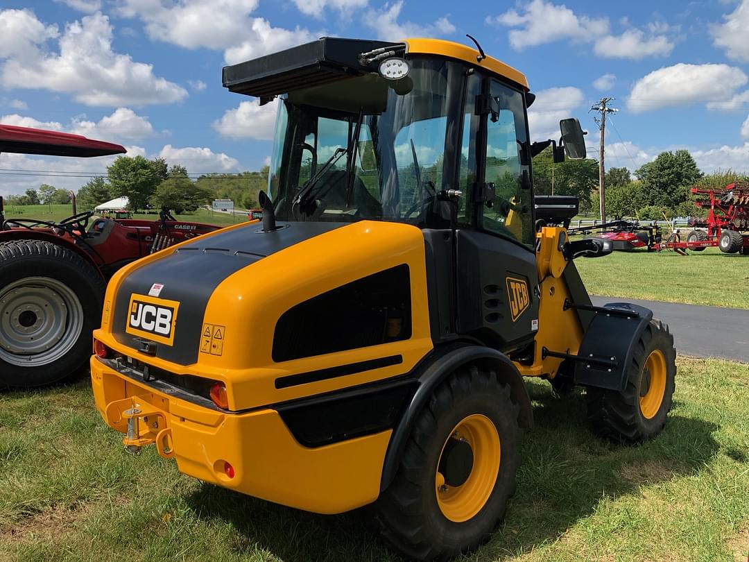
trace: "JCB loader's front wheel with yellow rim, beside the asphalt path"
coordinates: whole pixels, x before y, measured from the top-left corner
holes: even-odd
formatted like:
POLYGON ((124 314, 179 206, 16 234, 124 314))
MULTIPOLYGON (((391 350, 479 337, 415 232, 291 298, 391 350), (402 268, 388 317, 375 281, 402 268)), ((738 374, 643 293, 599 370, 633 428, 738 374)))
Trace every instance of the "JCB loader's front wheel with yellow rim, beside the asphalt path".
POLYGON ((626 444, 654 438, 671 409, 675 378, 673 336, 667 324, 651 320, 635 345, 625 390, 586 390, 592 431, 626 444))

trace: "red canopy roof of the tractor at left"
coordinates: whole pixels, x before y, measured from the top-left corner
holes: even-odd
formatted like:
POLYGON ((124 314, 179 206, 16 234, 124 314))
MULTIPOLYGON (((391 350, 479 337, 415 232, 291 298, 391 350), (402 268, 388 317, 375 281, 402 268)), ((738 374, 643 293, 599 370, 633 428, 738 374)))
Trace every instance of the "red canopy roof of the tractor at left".
POLYGON ((0 152, 91 157, 127 151, 112 142, 91 140, 82 135, 0 124, 0 152))

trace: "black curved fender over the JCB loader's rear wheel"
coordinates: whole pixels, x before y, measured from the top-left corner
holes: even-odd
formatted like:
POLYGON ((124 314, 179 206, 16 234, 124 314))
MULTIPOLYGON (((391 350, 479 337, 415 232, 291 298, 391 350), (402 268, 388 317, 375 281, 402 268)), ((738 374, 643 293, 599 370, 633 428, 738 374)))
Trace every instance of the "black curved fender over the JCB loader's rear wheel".
POLYGON ((510 396, 520 405, 518 421, 524 429, 533 429, 533 410, 530 396, 518 368, 505 354, 496 349, 482 345, 447 346, 443 350, 427 357, 413 375, 419 381, 419 387, 413 393, 410 403, 395 423, 383 461, 382 477, 380 478, 380 493, 392 483, 398 462, 406 447, 416 417, 427 404, 434 389, 452 372, 461 366, 477 364, 494 369, 503 383, 509 384, 510 396))

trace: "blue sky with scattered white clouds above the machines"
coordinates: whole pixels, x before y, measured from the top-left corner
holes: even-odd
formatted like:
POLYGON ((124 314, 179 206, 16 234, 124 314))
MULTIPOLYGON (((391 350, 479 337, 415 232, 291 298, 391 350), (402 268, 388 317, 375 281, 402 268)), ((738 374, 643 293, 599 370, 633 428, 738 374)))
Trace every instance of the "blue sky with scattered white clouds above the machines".
MULTIPOLYGON (((615 97, 607 165, 634 169, 688 148, 703 170, 749 171, 749 0, 0 1, 0 122, 120 142, 191 173, 255 170, 273 107, 229 94, 224 64, 332 34, 467 41, 524 71, 534 139, 615 97)), ((111 159, 0 154, 0 194, 86 178, 111 159), (32 172, 33 173, 33 172, 32 172), (74 174, 73 174, 74 175, 74 174)))

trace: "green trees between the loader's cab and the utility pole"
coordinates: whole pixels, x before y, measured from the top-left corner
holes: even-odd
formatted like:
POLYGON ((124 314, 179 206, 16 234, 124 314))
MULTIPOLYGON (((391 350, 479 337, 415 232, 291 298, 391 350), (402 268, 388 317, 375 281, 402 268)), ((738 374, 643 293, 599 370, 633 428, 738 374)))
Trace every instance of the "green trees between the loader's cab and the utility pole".
POLYGON ((590 194, 598 187, 595 160, 553 162, 551 147, 533 158, 533 185, 538 195, 571 195, 580 199, 580 208, 589 209, 590 194))

